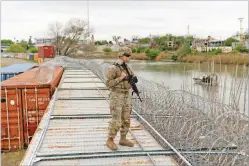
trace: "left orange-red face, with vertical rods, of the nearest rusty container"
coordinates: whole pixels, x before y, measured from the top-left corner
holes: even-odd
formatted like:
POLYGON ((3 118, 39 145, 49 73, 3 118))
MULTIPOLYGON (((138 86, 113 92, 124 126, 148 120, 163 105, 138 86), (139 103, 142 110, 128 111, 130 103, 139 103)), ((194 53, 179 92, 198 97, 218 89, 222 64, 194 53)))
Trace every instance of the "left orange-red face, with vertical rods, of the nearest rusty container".
POLYGON ((15 151, 24 146, 20 89, 1 90, 1 150, 15 151))

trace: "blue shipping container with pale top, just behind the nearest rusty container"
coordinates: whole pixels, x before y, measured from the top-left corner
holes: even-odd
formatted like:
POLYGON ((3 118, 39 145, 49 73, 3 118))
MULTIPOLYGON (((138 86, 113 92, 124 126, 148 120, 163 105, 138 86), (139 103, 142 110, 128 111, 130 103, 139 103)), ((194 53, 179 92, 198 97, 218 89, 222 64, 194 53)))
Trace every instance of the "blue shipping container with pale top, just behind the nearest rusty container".
POLYGON ((29 69, 32 69, 35 65, 36 65, 35 63, 22 63, 22 64, 14 64, 11 66, 1 68, 1 80, 0 81, 7 80, 29 69))

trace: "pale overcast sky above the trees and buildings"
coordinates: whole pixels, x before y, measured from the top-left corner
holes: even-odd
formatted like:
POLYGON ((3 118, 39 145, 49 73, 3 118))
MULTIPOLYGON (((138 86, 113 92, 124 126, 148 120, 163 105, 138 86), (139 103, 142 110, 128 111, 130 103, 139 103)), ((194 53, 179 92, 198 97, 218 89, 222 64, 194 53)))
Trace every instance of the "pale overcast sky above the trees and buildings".
MULTIPOLYGON (((90 27, 95 40, 113 35, 131 39, 152 35, 211 35, 225 39, 239 31, 239 17, 248 28, 246 1, 90 1, 90 27)), ((2 1, 1 38, 47 37, 48 25, 70 18, 87 20, 86 1, 2 1)))

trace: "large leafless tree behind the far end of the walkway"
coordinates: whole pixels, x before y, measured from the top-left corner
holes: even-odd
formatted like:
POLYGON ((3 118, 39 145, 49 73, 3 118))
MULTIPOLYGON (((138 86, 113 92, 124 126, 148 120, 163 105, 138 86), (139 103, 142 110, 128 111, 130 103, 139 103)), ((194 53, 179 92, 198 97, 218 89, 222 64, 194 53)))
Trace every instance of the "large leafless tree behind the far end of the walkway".
POLYGON ((87 23, 80 19, 71 19, 65 25, 56 22, 49 26, 49 34, 54 40, 56 53, 63 56, 74 53, 81 37, 86 38, 91 31, 87 29, 87 23))

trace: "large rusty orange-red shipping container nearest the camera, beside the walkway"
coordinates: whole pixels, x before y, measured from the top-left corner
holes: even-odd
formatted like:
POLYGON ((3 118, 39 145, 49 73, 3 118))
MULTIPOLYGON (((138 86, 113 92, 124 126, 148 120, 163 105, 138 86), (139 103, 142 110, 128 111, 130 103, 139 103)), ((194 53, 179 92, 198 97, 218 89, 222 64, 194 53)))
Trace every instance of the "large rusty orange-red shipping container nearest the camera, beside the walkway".
MULTIPOLYGON (((7 151, 21 149, 24 145, 29 144, 47 108, 50 98, 55 88, 58 86, 63 74, 63 68, 60 66, 56 66, 53 72, 52 80, 49 83, 40 84, 35 77, 37 75, 37 71, 38 67, 2 82, 2 95, 7 94, 7 97, 5 95, 3 96, 5 97, 5 100, 1 100, 1 111, 6 112, 6 116, 1 117, 1 127, 5 128, 4 130, 6 130, 6 132, 9 134, 5 134, 4 136, 2 135, 1 142, 2 148, 7 151), (15 107, 16 109, 11 107, 13 101, 8 99, 8 94, 14 93, 12 91, 16 92, 15 97, 18 98, 18 102, 20 105, 20 107, 18 107, 18 109, 20 110, 19 112, 17 111, 17 106, 15 107), (5 110, 3 108, 5 108, 5 110), (13 114, 19 113, 19 118, 20 116, 22 117, 22 121, 19 123, 20 128, 18 130, 22 135, 22 139, 20 139, 20 144, 18 144, 18 147, 16 142, 12 143, 13 141, 9 141, 16 138, 16 130, 10 130, 10 127, 8 127, 11 125, 11 117, 7 116, 8 111, 6 110, 10 110, 10 108, 14 110, 12 112, 13 114), (3 119, 6 120, 3 121, 3 119)), ((17 117, 17 115, 15 115, 15 117, 17 117)), ((14 121, 17 120, 18 118, 14 119, 14 121)))

